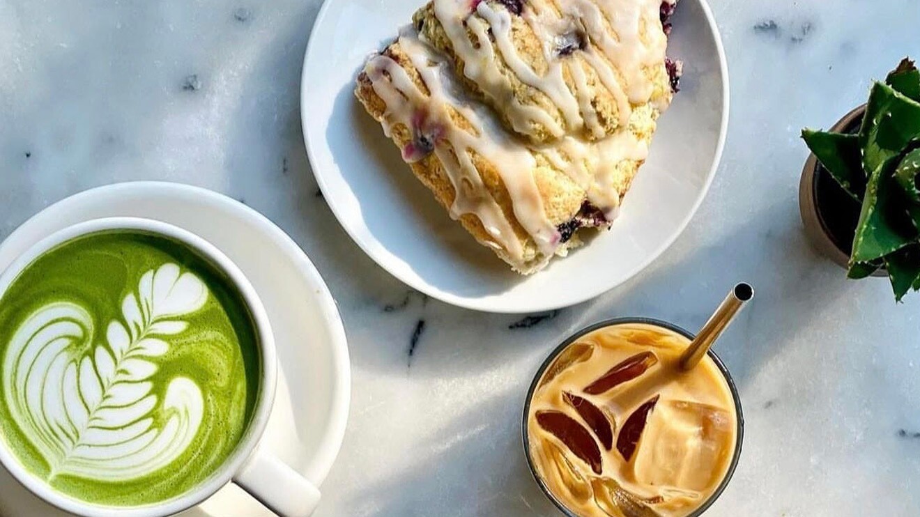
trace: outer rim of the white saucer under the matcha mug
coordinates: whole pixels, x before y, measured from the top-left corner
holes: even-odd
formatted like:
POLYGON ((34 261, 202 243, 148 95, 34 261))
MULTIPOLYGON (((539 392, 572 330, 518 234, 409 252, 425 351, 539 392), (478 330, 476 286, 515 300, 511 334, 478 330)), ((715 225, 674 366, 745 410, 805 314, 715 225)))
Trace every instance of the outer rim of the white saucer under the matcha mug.
MULTIPOLYGON (((193 193, 200 199, 204 198, 209 201, 225 204, 233 210, 245 213, 246 217, 258 224, 259 228, 265 230, 265 235, 269 236, 271 241, 282 248, 281 252, 284 255, 295 258, 295 266, 304 273, 305 278, 311 283, 312 293, 316 294, 317 301, 319 302, 318 305, 321 316, 326 322, 326 327, 329 331, 329 348, 332 350, 331 355, 333 357, 334 367, 337 371, 337 375, 334 376, 336 382, 330 385, 333 396, 328 417, 329 423, 320 442, 318 442, 318 452, 313 457, 314 462, 317 464, 314 468, 317 476, 310 478, 310 481, 317 487, 321 486, 323 481, 328 477, 329 472, 332 470, 332 466, 335 465, 335 460, 341 452, 341 446, 345 440, 345 431, 348 426, 351 408, 351 358, 348 350, 348 336, 345 332, 344 321, 339 311, 339 304, 329 291, 326 281, 324 281, 322 275, 319 274, 319 270, 316 270, 316 265, 314 265, 313 261, 306 255, 304 249, 298 246, 293 238, 289 236, 281 226, 274 224, 268 217, 259 213, 252 207, 239 203, 214 190, 178 181, 121 181, 81 190, 48 204, 37 213, 33 213, 21 224, 18 224, 16 229, 0 241, 0 249, 5 247, 8 242, 13 241, 15 243, 15 240, 22 238, 20 235, 28 231, 31 224, 39 221, 43 213, 47 213, 51 210, 67 210, 70 204, 84 203, 86 202, 86 198, 92 199, 99 195, 106 195, 109 194, 109 192, 118 192, 120 190, 163 190, 167 193, 193 193)), ((300 469, 297 470, 298 472, 301 471, 300 469)))

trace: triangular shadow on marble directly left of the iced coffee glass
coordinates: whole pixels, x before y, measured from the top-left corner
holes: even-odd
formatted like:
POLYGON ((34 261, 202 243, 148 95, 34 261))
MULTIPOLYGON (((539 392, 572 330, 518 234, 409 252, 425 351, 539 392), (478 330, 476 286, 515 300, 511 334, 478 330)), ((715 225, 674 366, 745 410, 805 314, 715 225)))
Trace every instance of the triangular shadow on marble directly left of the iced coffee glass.
MULTIPOLYGON (((521 401, 514 391, 443 422, 407 460, 341 502, 348 515, 535 515, 556 517, 527 468, 521 401)), ((374 472, 385 472, 376 466, 374 472)))

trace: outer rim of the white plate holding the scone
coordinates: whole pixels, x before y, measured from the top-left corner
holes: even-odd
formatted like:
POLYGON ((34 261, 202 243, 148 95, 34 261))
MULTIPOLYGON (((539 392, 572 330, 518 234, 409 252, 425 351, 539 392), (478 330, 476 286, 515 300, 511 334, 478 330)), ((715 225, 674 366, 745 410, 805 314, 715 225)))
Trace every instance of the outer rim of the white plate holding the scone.
MULTIPOLYGON (((319 8, 319 11, 316 14, 316 19, 313 22, 313 25, 310 29, 310 37, 306 43, 306 50, 304 52, 304 63, 301 66, 301 77, 300 77, 300 123, 301 131, 304 135, 304 145, 306 147, 306 155, 310 164, 310 171, 313 174, 313 177, 316 179, 316 184, 319 187, 319 190, 323 193, 323 199, 326 201, 326 204, 329 207, 329 210, 332 211, 335 215, 336 221, 339 223, 339 226, 345 230, 345 233, 351 237, 351 241, 354 242, 361 250, 367 255, 370 259, 374 260, 374 263, 377 264, 380 268, 385 270, 387 273, 395 277, 398 281, 403 282, 408 285, 408 287, 419 291, 420 293, 425 293, 432 298, 441 300, 446 304, 452 304, 458 307, 465 309, 471 309, 486 313, 497 313, 497 314, 527 314, 535 312, 546 312, 557 309, 562 309, 565 307, 570 307, 572 305, 581 304, 592 300, 601 294, 607 293, 614 290, 616 287, 623 285, 627 281, 631 280, 633 277, 638 275, 642 270, 648 268, 652 262, 659 259, 661 255, 664 254, 668 248, 672 247, 677 238, 684 234, 686 227, 690 224, 690 221, 693 219, 696 212, 699 210, 700 205, 703 203, 703 200, 706 199, 706 196, 709 192, 709 187, 712 185, 713 179, 716 177, 716 173, 719 170, 719 165, 722 160, 722 153, 725 150, 725 142, 728 137, 728 128, 729 128, 729 112, 730 112, 730 85, 729 85, 729 66, 728 60, 725 54, 725 47, 722 44, 722 36, 719 32, 719 25, 716 23, 716 18, 712 14, 712 8, 709 6, 707 0, 696 0, 696 3, 703 10, 703 15, 706 17, 709 30, 712 32, 713 39, 716 44, 716 54, 719 61, 719 75, 722 81, 722 116, 719 121, 719 138, 716 141, 716 149, 712 157, 712 164, 707 171, 706 180, 703 183, 702 189, 699 191, 699 194, 696 196, 693 205, 690 210, 684 215, 684 218, 677 225, 676 230, 673 232, 673 235, 669 236, 661 244, 660 247, 652 250, 644 260, 638 263, 636 267, 632 270, 629 270, 625 275, 623 275, 618 281, 611 282, 609 284, 601 282, 600 287, 595 289, 585 289, 580 294, 573 296, 571 299, 566 300, 561 303, 555 303, 551 300, 538 300, 535 304, 527 304, 518 306, 508 306, 508 304, 502 304, 500 302, 503 293, 495 294, 489 297, 480 297, 480 298, 471 298, 466 296, 457 295, 454 293, 446 293, 441 289, 438 289, 432 286, 426 281, 422 281, 417 278, 412 278, 411 275, 405 274, 400 270, 394 270, 388 267, 385 264, 385 260, 376 256, 375 253, 372 253, 370 248, 366 243, 363 242, 361 238, 356 236, 355 231, 351 228, 349 224, 343 222, 344 214, 341 212, 341 208, 337 206, 337 203, 330 201, 330 195, 326 180, 322 174, 316 173, 316 151, 314 150, 314 145, 310 137, 310 131, 308 129, 307 120, 309 118, 307 102, 307 75, 309 70, 307 69, 307 62, 310 60, 316 49, 320 46, 317 43, 318 38, 316 37, 316 29, 320 24, 326 21, 328 16, 328 11, 333 4, 336 2, 341 2, 342 0, 323 0, 323 5, 319 8)), ((368 52, 370 54, 371 52, 368 52)), ((535 273, 539 274, 539 272, 535 273)))

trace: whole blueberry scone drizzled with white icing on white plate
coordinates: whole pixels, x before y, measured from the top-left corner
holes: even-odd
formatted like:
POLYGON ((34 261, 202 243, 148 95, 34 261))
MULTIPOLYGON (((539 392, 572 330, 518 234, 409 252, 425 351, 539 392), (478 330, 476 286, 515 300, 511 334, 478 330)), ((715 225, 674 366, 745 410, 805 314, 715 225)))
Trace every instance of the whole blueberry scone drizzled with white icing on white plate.
POLYGON ((432 0, 355 95, 477 241, 532 273, 605 228, 676 91, 673 0, 432 0))

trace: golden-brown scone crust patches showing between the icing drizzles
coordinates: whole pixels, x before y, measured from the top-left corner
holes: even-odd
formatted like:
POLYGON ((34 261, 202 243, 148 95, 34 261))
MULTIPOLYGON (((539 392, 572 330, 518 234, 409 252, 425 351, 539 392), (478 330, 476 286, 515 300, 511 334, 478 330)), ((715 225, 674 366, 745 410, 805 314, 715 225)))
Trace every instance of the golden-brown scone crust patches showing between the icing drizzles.
MULTIPOLYGON (((416 13, 413 19, 416 21, 416 27, 421 29, 422 35, 432 44, 432 46, 445 52, 450 57, 452 54, 450 47, 449 45, 445 46, 444 43, 446 40, 446 35, 443 34, 443 28, 439 29, 440 24, 437 23, 437 19, 434 17, 432 9, 433 7, 431 4, 423 7, 419 12, 416 13), (440 44, 438 43, 439 40, 441 40, 440 44)), ((514 19, 516 20, 515 23, 523 23, 520 22, 520 17, 515 17, 514 19)), ((545 70, 546 63, 543 61, 544 58, 542 52, 539 52, 539 49, 531 48, 535 42, 538 44, 538 40, 535 40, 535 35, 533 33, 530 33, 530 36, 527 35, 527 32, 530 30, 529 26, 527 26, 526 23, 523 23, 523 28, 517 28, 515 30, 517 30, 517 32, 515 32, 514 43, 517 46, 517 51, 521 52, 522 55, 528 56, 526 59, 528 60, 528 63, 531 63, 535 67, 535 70, 541 70, 541 66, 545 70)), ((405 70, 409 79, 412 81, 412 83, 414 83, 415 86, 417 86, 422 95, 426 97, 430 95, 429 88, 423 81, 419 70, 415 68, 408 57, 408 53, 403 49, 398 40, 388 45, 385 50, 381 52, 381 54, 392 59, 403 70, 405 70)), ((457 63, 455 56, 454 63, 457 63)), ((469 91, 473 92, 475 98, 478 98, 480 101, 484 100, 484 96, 477 88, 477 86, 466 78, 463 78, 463 63, 457 63, 457 65, 459 66, 459 72, 457 72, 456 75, 457 77, 462 78, 461 82, 463 83, 463 86, 468 88, 469 91)), ((600 84, 600 81, 597 79, 597 75, 593 72, 591 66, 588 66, 586 62, 581 60, 581 58, 573 59, 571 63, 567 63, 567 66, 573 65, 581 66, 584 74, 589 78, 590 81, 596 84, 600 84)), ((570 81, 569 72, 570 70, 568 68, 564 70, 564 75, 566 77, 567 83, 570 81)), ((653 98, 654 96, 667 96, 667 99, 670 100, 670 89, 665 91, 669 83, 667 72, 664 70, 663 63, 660 71, 657 69, 648 69, 645 70, 645 72, 647 75, 656 77, 656 90, 653 94, 653 98)), ((511 74, 509 80, 512 81, 512 84, 513 81, 516 81, 517 86, 514 86, 514 91, 512 92, 512 95, 515 96, 515 98, 523 99, 525 102, 546 102, 548 103, 547 109, 555 109, 558 117, 561 118, 561 114, 558 112, 555 104, 549 101, 549 99, 546 98, 544 94, 535 90, 534 88, 531 88, 530 86, 523 85, 519 80, 517 80, 516 76, 513 76, 513 74, 511 74), (525 91, 528 88, 533 91, 525 91), (540 96, 543 96, 543 98, 540 98, 540 96)), ((598 111, 598 117, 602 121, 602 125, 604 125, 605 128, 604 131, 628 131, 631 132, 632 136, 634 136, 638 141, 644 141, 646 144, 648 144, 650 142, 652 133, 655 131, 656 119, 659 115, 658 108, 656 108, 655 104, 650 102, 631 107, 632 111, 627 121, 627 128, 618 128, 616 127, 619 124, 618 113, 616 111, 616 103, 612 98, 612 95, 603 87, 599 87, 598 91, 598 96, 592 99, 592 104, 598 111)), ((362 73, 358 76, 357 84, 355 87, 355 96, 361 101, 364 108, 371 116, 374 117, 376 121, 379 121, 383 123, 385 127, 390 128, 390 138, 397 145, 397 148, 403 149, 406 148, 408 144, 412 143, 413 134, 407 125, 401 122, 394 123, 394 120, 386 120, 389 117, 387 117, 387 107, 385 101, 374 90, 374 83, 368 76, 366 69, 362 71, 362 73)), ((497 109, 494 105, 489 105, 499 113, 500 118, 507 119, 507 116, 504 113, 501 113, 501 109, 497 109)), ((450 115, 451 121, 456 128, 462 131, 476 133, 473 124, 467 121, 459 110, 454 109, 453 106, 448 104, 447 111, 450 115)), ((505 120, 504 123, 508 124, 508 121, 505 120)), ((548 140, 551 135, 546 132, 546 134, 543 136, 548 140)), ((586 135, 582 136, 584 137, 586 135)), ((523 140, 523 135, 520 133, 512 132, 511 137, 523 140)), ((590 139, 585 138, 585 140, 590 139)), ((548 155, 545 155, 545 153, 550 150, 553 152, 559 151, 556 144, 534 144, 534 139, 530 139, 529 142, 530 144, 528 144, 527 148, 530 150, 531 155, 534 157, 536 164, 535 168, 531 171, 531 174, 533 175, 536 188, 540 194, 546 219, 551 224, 554 224, 560 228, 561 225, 571 224, 573 221, 575 221, 577 214, 579 214, 580 210, 582 209, 583 204, 589 198, 588 192, 585 190, 587 187, 581 187, 579 183, 577 183, 573 178, 569 176, 569 171, 560 168, 570 167, 568 167, 566 164, 560 165, 558 158, 554 160, 550 159, 548 155)), ((476 172, 482 179, 483 185, 485 186, 486 190, 488 190, 489 195, 500 207, 500 210, 504 214, 505 219, 507 219, 512 226, 513 235, 517 239, 520 247, 523 249, 523 261, 513 259, 506 251, 506 249, 496 245, 495 238, 489 235, 489 232, 487 232, 477 214, 462 214, 459 217, 460 223, 463 224, 463 226, 466 228, 466 231, 474 236, 480 244, 491 248, 501 259, 512 265, 512 269, 518 270, 524 274, 529 274, 535 270, 541 269, 549 258, 542 255, 534 239, 527 233, 527 231, 524 230, 523 226, 518 222, 517 217, 515 217, 511 196, 509 195, 508 190, 505 188, 498 168, 494 164, 489 163, 489 161, 486 160, 483 156, 478 155, 475 150, 470 150, 469 152, 475 165, 476 172)), ((445 169, 438 155, 436 153, 431 153, 408 165, 411 168, 413 174, 419 178, 420 181, 429 190, 431 190, 435 198, 443 205, 443 207, 450 211, 450 208, 454 203, 454 198, 456 197, 456 192, 454 190, 454 185, 452 183, 451 177, 448 175, 447 170, 445 169)), ((614 167, 615 170, 612 173, 612 178, 609 185, 615 189, 616 192, 619 192, 620 197, 622 197, 623 193, 628 190, 629 184, 638 172, 638 167, 642 165, 642 161, 623 159, 623 156, 615 156, 615 164, 607 163, 606 165, 614 167)), ((603 225, 603 222, 598 224, 587 224, 589 227, 597 225, 603 225)), ((579 225, 575 225, 576 230, 578 227, 579 225)), ((579 236, 572 233, 571 231, 569 231, 569 234, 571 238, 569 240, 563 239, 564 242, 562 242, 556 250, 557 255, 565 256, 570 248, 581 246, 581 239, 579 236)), ((568 236, 565 238, 568 238, 568 236)))

